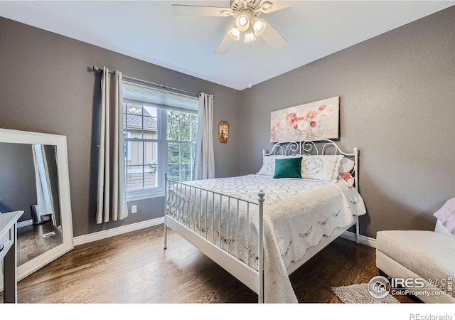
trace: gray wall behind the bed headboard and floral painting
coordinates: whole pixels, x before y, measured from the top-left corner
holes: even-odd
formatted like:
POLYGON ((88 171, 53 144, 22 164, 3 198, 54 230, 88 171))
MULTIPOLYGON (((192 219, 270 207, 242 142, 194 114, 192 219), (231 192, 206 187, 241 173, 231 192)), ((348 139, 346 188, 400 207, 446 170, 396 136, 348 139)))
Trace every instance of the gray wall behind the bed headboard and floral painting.
POLYGON ((261 166, 270 112, 341 97, 343 149, 360 149, 361 233, 432 230, 455 196, 455 6, 240 92, 240 174, 261 166))

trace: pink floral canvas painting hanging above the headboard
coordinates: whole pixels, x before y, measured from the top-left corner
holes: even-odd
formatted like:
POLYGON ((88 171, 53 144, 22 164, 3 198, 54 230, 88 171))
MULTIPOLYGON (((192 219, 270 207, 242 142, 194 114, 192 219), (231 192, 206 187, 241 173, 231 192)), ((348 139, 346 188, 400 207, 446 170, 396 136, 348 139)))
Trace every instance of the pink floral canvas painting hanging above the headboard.
POLYGON ((270 113, 270 142, 336 139, 340 97, 306 103, 270 113))

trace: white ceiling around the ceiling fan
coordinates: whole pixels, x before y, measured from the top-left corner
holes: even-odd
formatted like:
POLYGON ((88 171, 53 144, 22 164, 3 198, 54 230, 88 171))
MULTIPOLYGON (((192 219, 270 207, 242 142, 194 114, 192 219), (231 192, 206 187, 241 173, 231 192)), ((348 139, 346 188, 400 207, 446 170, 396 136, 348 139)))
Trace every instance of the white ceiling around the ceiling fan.
POLYGON ((242 90, 455 4, 291 2, 261 15, 286 46, 274 50, 258 38, 236 42, 224 55, 214 52, 234 18, 175 16, 172 4, 229 7, 230 1, 0 1, 0 16, 242 90))

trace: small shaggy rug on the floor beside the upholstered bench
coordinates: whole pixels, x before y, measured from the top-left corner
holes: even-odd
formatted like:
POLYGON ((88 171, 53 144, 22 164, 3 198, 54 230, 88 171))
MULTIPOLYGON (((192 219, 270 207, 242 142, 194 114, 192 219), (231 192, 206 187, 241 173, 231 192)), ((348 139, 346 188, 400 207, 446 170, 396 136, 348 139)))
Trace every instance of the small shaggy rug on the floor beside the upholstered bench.
POLYGON ((382 299, 372 297, 368 284, 351 284, 350 286, 332 287, 332 292, 345 304, 399 304, 395 297, 387 294, 382 299))

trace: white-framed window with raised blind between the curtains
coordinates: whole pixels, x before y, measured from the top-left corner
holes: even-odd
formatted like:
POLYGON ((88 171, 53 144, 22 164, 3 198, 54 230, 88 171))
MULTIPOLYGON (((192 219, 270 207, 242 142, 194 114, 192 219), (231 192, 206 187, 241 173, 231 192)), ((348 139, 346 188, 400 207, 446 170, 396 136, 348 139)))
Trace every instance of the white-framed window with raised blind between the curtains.
POLYGON ((127 196, 164 195, 164 173, 190 181, 196 159, 198 98, 123 82, 127 196))

